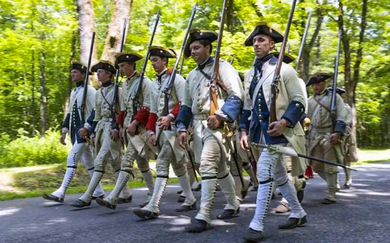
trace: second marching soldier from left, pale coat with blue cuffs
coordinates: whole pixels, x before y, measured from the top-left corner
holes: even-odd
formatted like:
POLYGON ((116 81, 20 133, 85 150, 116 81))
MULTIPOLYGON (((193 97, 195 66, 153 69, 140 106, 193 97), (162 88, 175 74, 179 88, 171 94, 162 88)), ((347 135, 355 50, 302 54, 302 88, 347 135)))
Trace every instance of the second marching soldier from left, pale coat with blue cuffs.
MULTIPOLYGON (((100 60, 97 64, 91 67, 91 71, 98 73, 98 80, 101 82, 101 88, 97 91, 95 97, 95 118, 93 125, 89 128, 80 129, 80 137, 84 138, 91 134, 91 139, 95 143, 97 156, 95 157, 94 165, 95 172, 89 183, 87 191, 71 205, 76 208, 83 208, 91 205, 92 192, 98 186, 105 172, 105 165, 110 161, 116 173, 120 170, 120 157, 122 154, 122 145, 118 139, 117 131, 112 129, 114 118, 112 117, 111 103, 115 94, 114 84, 112 82, 113 74, 115 73, 114 66, 109 61, 100 60)), ((121 88, 117 87, 117 95, 120 96, 121 88)), ((113 109, 119 109, 116 104, 113 109)), ((117 113, 117 112, 116 112, 117 113)), ((86 125, 84 125, 86 126, 86 125)), ((122 190, 121 197, 129 198, 131 195, 125 186, 122 190)))

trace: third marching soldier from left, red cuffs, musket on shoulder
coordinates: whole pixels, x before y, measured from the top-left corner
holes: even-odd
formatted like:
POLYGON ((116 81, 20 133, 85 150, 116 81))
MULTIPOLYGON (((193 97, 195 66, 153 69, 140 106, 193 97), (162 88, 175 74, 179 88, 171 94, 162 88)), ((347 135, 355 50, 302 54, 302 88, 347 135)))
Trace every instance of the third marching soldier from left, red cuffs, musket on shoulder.
MULTIPOLYGON (((116 205, 122 201, 120 197, 118 198, 118 195, 130 176, 133 175, 135 159, 137 160, 137 166, 141 171, 142 178, 149 189, 148 197, 150 198, 153 193, 153 174, 149 167, 149 156, 153 156, 155 152, 146 144, 147 133, 145 129, 150 109, 151 86, 151 81, 147 77, 144 77, 142 82, 137 101, 137 114, 134 114, 133 111, 133 99, 136 97, 140 82, 140 74, 137 72, 136 62, 141 58, 141 55, 133 52, 120 52, 116 55, 115 67, 127 79, 123 83, 122 94, 119 98, 120 112, 117 116, 115 127, 120 127, 119 136, 125 140, 127 147, 122 157, 121 168, 114 190, 106 198, 97 200, 98 204, 111 209, 115 209, 116 205)), ((147 201, 149 201, 149 198, 147 201)), ((129 197, 129 201, 131 199, 129 197)))

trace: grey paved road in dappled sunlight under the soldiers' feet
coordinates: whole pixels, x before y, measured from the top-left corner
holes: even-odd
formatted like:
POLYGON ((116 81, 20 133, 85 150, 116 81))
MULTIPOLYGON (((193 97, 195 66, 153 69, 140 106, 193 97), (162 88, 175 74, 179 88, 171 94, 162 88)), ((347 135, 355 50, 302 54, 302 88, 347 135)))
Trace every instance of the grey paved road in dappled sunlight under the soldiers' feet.
MULTIPOLYGON (((326 195, 325 183, 318 176, 308 181, 303 207, 308 213, 307 226, 279 230, 277 225, 287 215, 277 215, 271 209, 266 220, 265 242, 390 242, 390 162, 357 166, 353 172, 353 187, 338 193, 337 204, 320 204, 326 195)), ((340 173, 341 183, 344 174, 340 173)), ((212 228, 200 233, 183 231, 196 211, 179 215, 173 209, 177 185, 168 186, 161 205, 161 215, 153 221, 141 221, 133 214, 145 198, 145 189, 133 190, 134 201, 119 205, 117 210, 98 206, 86 209, 69 205, 78 195, 67 195, 65 204, 29 198, 0 202, 0 242, 132 242, 132 243, 236 243, 254 213, 255 193, 250 192, 241 205, 240 216, 217 220, 224 197, 217 193, 212 228)), ((195 192, 197 198, 200 192, 195 192)), ((280 198, 278 198, 280 199, 280 198)), ((271 208, 277 205, 273 200, 271 208)))

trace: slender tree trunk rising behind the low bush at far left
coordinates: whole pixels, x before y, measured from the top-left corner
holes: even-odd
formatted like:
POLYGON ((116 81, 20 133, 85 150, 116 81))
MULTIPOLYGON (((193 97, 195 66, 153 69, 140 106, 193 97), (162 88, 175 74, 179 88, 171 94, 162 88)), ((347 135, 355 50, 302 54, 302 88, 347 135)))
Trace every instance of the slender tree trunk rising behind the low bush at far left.
MULTIPOLYGON (((44 39, 44 35, 42 40, 44 39)), ((40 105, 39 105, 39 112, 40 112, 40 136, 44 137, 45 132, 47 130, 47 111, 46 111, 46 102, 47 102, 47 95, 46 95, 46 77, 45 77, 45 62, 46 62, 46 53, 44 50, 40 51, 40 63, 39 63, 39 70, 40 70, 40 77, 39 77, 39 91, 40 91, 40 105)))

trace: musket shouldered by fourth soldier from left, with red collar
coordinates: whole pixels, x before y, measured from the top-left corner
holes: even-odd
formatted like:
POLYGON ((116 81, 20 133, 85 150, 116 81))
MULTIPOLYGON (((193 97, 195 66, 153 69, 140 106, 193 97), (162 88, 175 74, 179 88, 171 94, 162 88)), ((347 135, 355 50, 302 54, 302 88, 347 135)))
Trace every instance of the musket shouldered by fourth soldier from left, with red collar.
POLYGON ((172 69, 172 73, 169 76, 169 80, 168 80, 167 84, 165 85, 164 89, 162 90, 162 92, 164 93, 164 107, 163 107, 162 112, 161 112, 161 116, 162 117, 167 116, 169 114, 168 103, 169 103, 169 100, 172 98, 172 96, 171 96, 171 89, 172 89, 172 87, 174 86, 174 83, 175 83, 177 66, 179 65, 180 58, 181 58, 181 56, 182 56, 182 54, 184 52, 184 47, 185 47, 185 44, 186 44, 186 40, 187 40, 188 34, 190 33, 190 29, 191 29, 192 23, 194 21, 194 17, 195 17, 195 13, 196 13, 197 7, 198 7, 198 3, 196 2, 195 5, 194 5, 194 8, 192 10, 192 13, 191 13, 190 21, 188 22, 188 25, 187 25, 187 31, 184 34, 183 41, 181 42, 180 51, 179 51, 178 55, 176 56, 176 60, 175 60, 174 67, 172 69))

